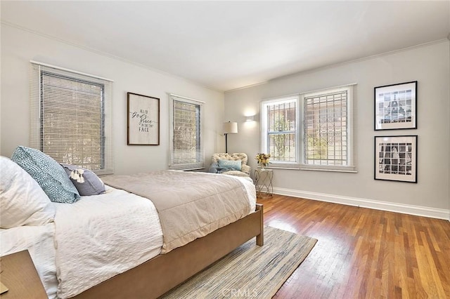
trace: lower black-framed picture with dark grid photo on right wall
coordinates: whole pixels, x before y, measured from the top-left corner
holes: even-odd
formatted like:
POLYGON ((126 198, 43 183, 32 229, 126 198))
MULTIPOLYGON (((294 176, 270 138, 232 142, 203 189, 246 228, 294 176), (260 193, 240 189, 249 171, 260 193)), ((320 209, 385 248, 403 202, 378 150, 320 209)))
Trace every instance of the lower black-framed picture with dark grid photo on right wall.
POLYGON ((374 178, 417 182, 417 135, 375 136, 374 178))

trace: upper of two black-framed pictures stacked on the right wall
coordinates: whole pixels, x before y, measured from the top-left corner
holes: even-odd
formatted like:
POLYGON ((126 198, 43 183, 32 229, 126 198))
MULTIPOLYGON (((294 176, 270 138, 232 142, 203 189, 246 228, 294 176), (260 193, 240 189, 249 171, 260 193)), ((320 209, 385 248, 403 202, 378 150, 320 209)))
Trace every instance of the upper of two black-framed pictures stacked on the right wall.
POLYGON ((375 131, 417 128, 417 81, 373 89, 375 131))

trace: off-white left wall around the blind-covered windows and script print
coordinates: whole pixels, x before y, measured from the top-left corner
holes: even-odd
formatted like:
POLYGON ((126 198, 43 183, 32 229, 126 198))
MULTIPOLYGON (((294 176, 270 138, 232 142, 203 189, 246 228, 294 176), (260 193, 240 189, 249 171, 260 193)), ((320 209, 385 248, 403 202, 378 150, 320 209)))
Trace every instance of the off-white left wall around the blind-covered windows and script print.
POLYGON ((166 169, 169 154, 167 93, 205 101, 205 154, 209 161, 224 148, 224 93, 77 46, 1 25, 1 148, 11 157, 18 145, 29 145, 30 60, 114 80, 113 147, 115 173, 166 169), (160 145, 127 146, 127 92, 160 98, 160 145))

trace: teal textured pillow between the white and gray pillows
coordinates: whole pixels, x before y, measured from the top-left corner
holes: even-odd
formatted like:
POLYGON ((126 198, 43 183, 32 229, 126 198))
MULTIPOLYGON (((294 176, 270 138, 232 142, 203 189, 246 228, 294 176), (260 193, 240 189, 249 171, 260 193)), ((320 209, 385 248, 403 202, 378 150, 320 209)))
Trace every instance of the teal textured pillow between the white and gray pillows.
POLYGON ((13 152, 11 160, 37 181, 51 201, 72 204, 79 199, 77 188, 64 168, 43 152, 19 146, 13 152))

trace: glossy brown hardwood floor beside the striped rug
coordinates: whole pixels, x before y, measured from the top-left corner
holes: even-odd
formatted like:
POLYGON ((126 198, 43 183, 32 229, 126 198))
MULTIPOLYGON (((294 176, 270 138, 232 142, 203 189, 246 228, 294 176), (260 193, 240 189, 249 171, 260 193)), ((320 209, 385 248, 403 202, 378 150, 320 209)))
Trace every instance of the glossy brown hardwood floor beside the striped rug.
POLYGON ((318 239, 274 298, 450 298, 450 222, 274 195, 264 224, 318 239))

